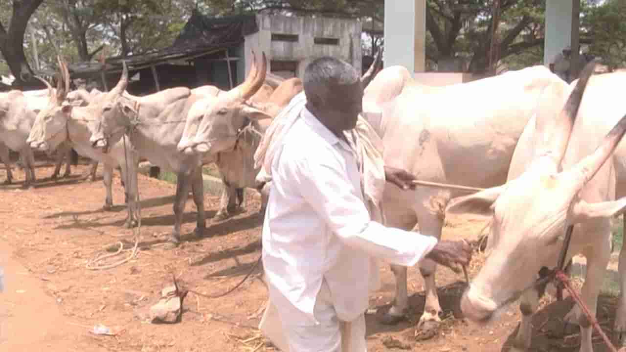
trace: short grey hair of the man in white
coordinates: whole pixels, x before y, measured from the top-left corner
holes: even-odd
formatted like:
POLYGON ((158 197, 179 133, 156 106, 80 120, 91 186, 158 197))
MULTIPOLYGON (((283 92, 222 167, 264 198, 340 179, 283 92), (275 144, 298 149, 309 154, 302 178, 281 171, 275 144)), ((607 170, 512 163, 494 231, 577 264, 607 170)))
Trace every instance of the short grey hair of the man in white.
POLYGON ((317 96, 317 101, 325 101, 329 85, 353 85, 360 79, 356 69, 346 61, 322 56, 307 65, 302 86, 307 100, 317 96))

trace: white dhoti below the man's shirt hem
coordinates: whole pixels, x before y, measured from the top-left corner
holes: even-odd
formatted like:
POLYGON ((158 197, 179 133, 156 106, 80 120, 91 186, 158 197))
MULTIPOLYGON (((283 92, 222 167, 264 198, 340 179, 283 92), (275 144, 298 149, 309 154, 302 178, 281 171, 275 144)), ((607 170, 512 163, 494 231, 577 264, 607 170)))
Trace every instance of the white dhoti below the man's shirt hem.
POLYGON ((337 313, 331 303, 331 293, 326 285, 317 294, 314 314, 319 324, 283 323, 280 312, 294 316, 301 314, 301 322, 310 319, 295 308, 280 292, 273 291, 265 306, 259 329, 270 339, 274 346, 283 352, 365 352, 365 315, 361 314, 354 321, 337 319, 337 313), (280 308, 279 308, 280 307, 280 308))

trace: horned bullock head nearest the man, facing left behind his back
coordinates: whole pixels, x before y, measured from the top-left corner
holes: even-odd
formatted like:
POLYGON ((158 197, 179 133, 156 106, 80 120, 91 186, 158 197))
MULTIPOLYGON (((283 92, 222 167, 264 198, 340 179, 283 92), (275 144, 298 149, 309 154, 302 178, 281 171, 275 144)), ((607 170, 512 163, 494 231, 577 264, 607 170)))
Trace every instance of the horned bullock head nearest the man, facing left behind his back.
POLYGON ((267 58, 263 53, 260 70, 252 51, 252 67, 245 81, 230 91, 220 93, 206 110, 190 110, 185 133, 178 143, 178 150, 185 153, 217 153, 234 147, 239 130, 252 120, 271 118, 250 98, 265 81, 267 58), (194 137, 195 136, 195 137, 194 137))

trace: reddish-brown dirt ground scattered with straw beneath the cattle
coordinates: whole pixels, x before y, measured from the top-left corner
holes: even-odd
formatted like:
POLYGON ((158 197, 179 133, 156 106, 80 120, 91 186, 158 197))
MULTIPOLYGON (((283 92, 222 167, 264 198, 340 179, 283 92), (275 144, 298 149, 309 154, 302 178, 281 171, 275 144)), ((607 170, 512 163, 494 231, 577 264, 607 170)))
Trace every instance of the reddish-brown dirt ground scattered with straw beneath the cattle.
MULTIPOLYGON (((24 172, 14 167, 17 184, 0 186, 0 265, 5 269, 5 292, 0 294, 0 351, 273 351, 257 326, 267 292, 259 279, 249 279, 232 294, 219 299, 189 293, 182 321, 150 324, 141 312, 158 301, 160 290, 172 284, 174 273, 183 285, 198 292, 218 294, 240 281, 260 255, 259 196, 246 193, 246 209, 231 219, 212 222, 218 198, 205 196, 207 235, 195 239, 195 206, 188 200, 183 238, 174 250, 162 244, 172 229, 175 186, 140 175, 143 215, 140 251, 135 259, 114 269, 93 271, 86 264, 122 242, 130 254, 133 230, 123 229, 123 189, 116 173, 115 209, 101 210, 105 189, 101 167, 96 182, 80 179, 86 165, 73 169, 71 179, 51 182, 48 163, 39 163, 39 181, 22 189, 24 172), (44 165, 45 164, 45 165, 44 165), (115 336, 90 332, 104 324, 115 336)), ((4 169, 0 170, 0 182, 4 169)), ((483 224, 477 220, 448 219, 444 238, 475 240, 483 224)), ((476 274, 479 259, 469 268, 476 274)), ((409 268, 411 309, 397 326, 377 323, 377 308, 393 299, 394 279, 381 266, 382 288, 371 297, 367 314, 369 351, 508 351, 520 314, 511 306, 498 323, 486 327, 461 316, 458 299, 463 276, 439 267, 437 282, 444 308, 444 323, 436 336, 421 339, 416 333, 423 308, 423 279, 409 268), (417 338, 416 338, 417 336, 417 338)), ((355 273, 358 274, 358 273, 355 273)), ((258 272, 257 272, 258 275, 258 272)), ((598 318, 608 330, 613 324, 615 298, 603 297, 598 318)), ((565 331, 560 319, 572 306, 569 299, 552 302, 536 314, 533 351, 577 351, 578 330, 565 331)), ((595 336, 595 335, 594 335, 595 336)), ((597 338, 595 351, 605 351, 597 338)))

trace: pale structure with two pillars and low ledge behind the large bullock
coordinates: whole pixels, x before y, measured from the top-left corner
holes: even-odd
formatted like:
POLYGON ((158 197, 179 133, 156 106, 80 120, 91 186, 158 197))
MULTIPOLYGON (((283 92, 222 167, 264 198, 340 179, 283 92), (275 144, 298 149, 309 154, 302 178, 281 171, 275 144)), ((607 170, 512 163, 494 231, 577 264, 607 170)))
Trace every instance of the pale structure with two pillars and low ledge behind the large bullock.
MULTIPOLYGON (((544 65, 565 46, 578 48, 580 0, 546 1, 544 65)), ((402 65, 428 85, 448 85, 473 80, 468 73, 426 72, 426 0, 385 1, 384 66, 402 65)), ((578 62, 578 51, 572 51, 578 62)), ((575 72, 580 71, 575 68, 575 72)))

